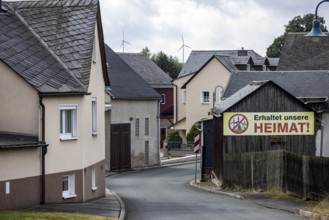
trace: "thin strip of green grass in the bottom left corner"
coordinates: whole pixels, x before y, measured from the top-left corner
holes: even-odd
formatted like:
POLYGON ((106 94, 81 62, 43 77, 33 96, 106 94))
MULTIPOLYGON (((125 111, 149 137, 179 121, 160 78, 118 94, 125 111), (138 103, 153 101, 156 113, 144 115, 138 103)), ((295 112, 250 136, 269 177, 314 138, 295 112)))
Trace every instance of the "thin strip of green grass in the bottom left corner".
POLYGON ((116 218, 60 212, 0 211, 0 220, 116 220, 116 218))

